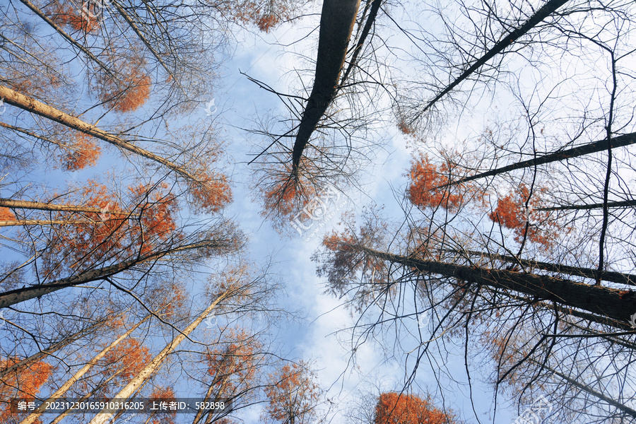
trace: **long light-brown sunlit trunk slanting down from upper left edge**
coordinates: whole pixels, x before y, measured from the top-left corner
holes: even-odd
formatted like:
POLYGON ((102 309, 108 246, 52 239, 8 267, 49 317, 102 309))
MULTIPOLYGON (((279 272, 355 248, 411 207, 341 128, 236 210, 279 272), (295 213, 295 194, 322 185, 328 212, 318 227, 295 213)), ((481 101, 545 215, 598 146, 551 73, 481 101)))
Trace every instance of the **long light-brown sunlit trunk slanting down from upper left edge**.
POLYGON ((11 88, 0 85, 0 98, 4 98, 4 101, 7 102, 9 105, 19 107, 20 109, 26 110, 27 112, 39 114, 41 117, 51 119, 54 122, 58 122, 59 124, 68 126, 69 128, 76 129, 77 131, 81 131, 84 134, 88 134, 89 136, 93 136, 100 140, 106 141, 107 143, 111 143, 112 145, 122 148, 125 151, 129 151, 136 155, 140 155, 143 158, 153 160, 154 162, 160 163, 168 169, 177 172, 177 174, 181 175, 182 177, 185 177, 192 182, 201 184, 199 178, 197 178, 196 175, 190 173, 184 167, 172 163, 170 162, 170 160, 167 160, 160 155, 156 155, 155 153, 149 152, 141 147, 135 146, 134 144, 121 139, 119 136, 107 133, 106 131, 99 129, 93 124, 88 124, 88 122, 82 121, 78 117, 73 117, 72 115, 62 112, 61 110, 57 110, 55 107, 45 105, 38 100, 20 94, 15 90, 11 90, 11 88))

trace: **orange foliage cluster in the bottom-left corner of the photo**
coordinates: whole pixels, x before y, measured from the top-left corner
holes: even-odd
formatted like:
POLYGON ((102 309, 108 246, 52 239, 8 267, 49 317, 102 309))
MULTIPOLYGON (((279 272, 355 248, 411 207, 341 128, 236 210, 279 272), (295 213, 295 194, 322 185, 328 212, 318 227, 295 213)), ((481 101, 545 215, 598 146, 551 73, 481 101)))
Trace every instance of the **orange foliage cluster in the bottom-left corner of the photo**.
MULTIPOLYGON (((0 360, 0 370, 4 370, 18 362, 20 362, 18 358, 0 360)), ((0 379, 0 404, 4 406, 0 409, 0 423, 10 422, 9 418, 16 419, 16 422, 18 422, 16 405, 9 404, 9 399, 35 399, 42 385, 49 379, 52 371, 52 365, 40 361, 11 372, 0 379), (9 405, 11 406, 8 407, 9 405)), ((41 423, 41 421, 38 420, 36 423, 41 423)))

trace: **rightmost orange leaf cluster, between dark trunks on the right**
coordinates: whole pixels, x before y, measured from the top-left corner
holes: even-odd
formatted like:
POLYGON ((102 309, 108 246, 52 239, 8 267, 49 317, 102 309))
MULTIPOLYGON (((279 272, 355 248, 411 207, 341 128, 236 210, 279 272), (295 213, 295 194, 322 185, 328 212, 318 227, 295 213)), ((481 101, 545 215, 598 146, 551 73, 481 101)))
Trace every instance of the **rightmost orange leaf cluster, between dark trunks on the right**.
POLYGON ((567 229, 559 228, 550 211, 535 210, 541 206, 541 195, 546 192, 546 188, 535 189, 530 197, 529 188, 523 183, 519 184, 512 193, 497 200, 497 208, 488 213, 488 217, 512 230, 517 242, 527 237, 531 242, 550 247, 558 233, 567 229), (539 225, 543 228, 539 228, 539 225))

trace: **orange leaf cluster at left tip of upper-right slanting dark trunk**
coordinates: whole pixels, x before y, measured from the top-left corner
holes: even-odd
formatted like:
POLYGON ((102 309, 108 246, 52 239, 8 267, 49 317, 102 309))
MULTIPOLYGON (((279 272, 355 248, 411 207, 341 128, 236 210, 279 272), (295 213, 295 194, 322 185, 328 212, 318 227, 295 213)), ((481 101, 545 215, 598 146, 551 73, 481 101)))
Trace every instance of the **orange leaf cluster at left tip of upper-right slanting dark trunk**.
POLYGON ((420 155, 420 158, 411 162, 408 178, 411 185, 407 189, 408 198, 420 208, 441 207, 449 211, 457 211, 464 204, 469 190, 464 184, 449 187, 440 187, 451 181, 451 173, 454 165, 449 162, 442 165, 430 163, 428 157, 420 155), (437 188, 440 187, 440 188, 437 188))

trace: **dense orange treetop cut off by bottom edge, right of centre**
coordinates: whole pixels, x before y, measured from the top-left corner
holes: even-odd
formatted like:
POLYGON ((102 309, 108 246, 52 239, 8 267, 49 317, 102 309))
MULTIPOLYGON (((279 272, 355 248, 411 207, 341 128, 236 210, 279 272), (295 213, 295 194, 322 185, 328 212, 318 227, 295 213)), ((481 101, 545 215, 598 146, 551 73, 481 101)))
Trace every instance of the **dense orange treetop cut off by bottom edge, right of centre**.
POLYGON ((449 413, 416 395, 383 393, 375 406, 375 424, 453 424, 449 413))

